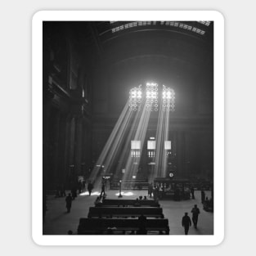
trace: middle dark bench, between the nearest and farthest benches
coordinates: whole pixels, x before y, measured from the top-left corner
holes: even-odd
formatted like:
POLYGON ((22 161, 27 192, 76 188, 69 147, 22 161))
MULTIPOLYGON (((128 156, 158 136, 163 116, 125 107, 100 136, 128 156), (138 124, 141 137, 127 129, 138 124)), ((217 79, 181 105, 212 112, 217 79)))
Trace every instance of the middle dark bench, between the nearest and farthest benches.
POLYGON ((164 218, 159 207, 90 207, 88 218, 135 218, 141 214, 147 218, 164 218))

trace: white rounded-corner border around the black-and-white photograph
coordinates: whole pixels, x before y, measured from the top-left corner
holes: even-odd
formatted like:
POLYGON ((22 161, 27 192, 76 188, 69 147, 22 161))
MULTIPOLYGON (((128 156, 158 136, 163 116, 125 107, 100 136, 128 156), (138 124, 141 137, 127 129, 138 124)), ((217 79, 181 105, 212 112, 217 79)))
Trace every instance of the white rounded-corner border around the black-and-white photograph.
POLYGON ((224 239, 224 18, 218 11, 38 11, 32 25, 32 237, 38 245, 218 245, 224 239), (214 234, 43 236, 43 20, 214 21, 214 234), (113 239, 115 237, 115 239, 113 239), (97 239, 96 239, 97 238, 97 239), (125 238, 125 239, 124 239, 125 238))

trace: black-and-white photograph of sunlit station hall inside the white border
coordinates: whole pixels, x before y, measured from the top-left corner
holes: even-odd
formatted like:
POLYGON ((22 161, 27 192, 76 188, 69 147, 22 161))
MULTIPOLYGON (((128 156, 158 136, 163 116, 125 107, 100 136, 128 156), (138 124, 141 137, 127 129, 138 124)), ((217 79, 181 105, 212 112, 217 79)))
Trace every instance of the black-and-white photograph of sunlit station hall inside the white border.
POLYGON ((44 238, 218 233, 216 21, 147 17, 42 19, 44 238))

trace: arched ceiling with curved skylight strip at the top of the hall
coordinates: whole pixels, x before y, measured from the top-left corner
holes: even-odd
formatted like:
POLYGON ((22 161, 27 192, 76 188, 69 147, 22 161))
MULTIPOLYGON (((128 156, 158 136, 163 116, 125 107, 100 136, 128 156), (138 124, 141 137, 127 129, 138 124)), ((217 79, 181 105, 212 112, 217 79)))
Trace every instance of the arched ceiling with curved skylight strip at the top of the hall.
POLYGON ((210 21, 101 21, 91 31, 101 61, 108 65, 134 56, 161 55, 184 61, 205 61, 213 54, 210 21))

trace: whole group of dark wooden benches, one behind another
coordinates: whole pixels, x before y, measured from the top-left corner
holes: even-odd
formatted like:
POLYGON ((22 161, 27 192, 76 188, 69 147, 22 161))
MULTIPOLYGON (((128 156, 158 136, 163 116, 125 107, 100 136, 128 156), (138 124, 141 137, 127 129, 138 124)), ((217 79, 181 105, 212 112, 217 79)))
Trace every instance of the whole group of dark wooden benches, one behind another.
POLYGON ((104 199, 90 207, 88 218, 79 220, 78 235, 122 235, 128 231, 168 235, 168 219, 164 218, 163 209, 155 200, 104 199))

